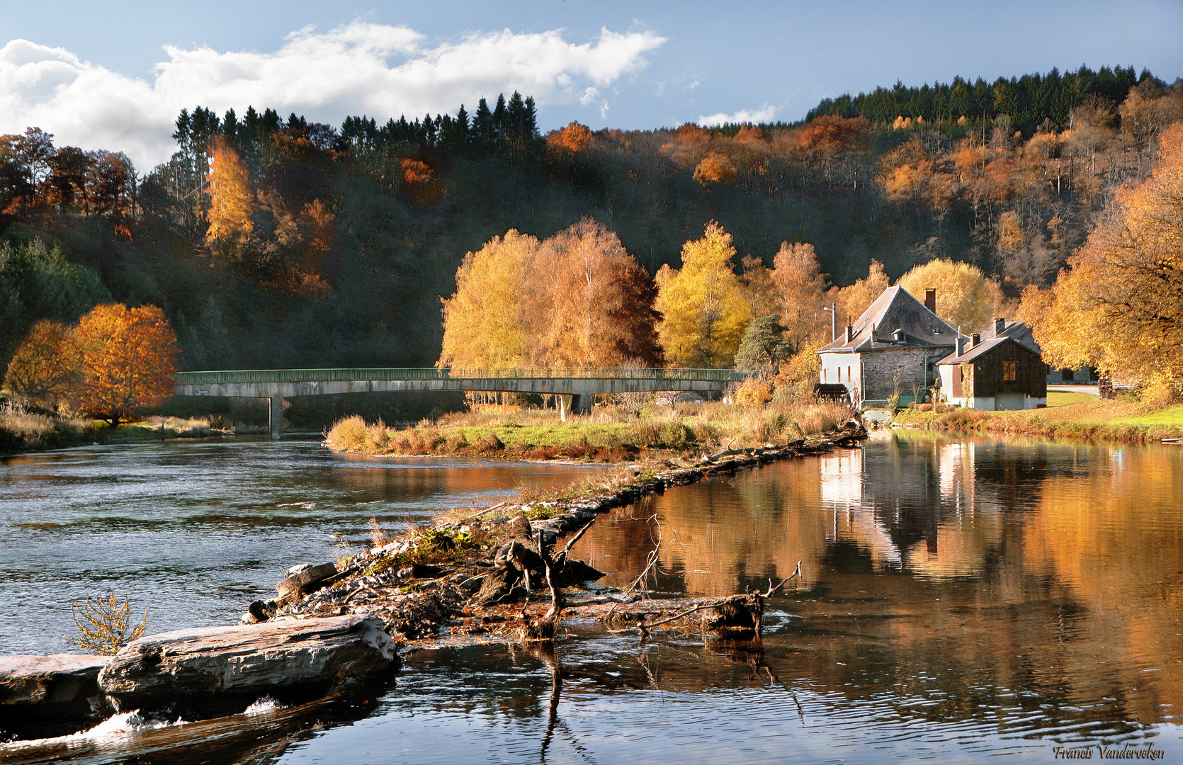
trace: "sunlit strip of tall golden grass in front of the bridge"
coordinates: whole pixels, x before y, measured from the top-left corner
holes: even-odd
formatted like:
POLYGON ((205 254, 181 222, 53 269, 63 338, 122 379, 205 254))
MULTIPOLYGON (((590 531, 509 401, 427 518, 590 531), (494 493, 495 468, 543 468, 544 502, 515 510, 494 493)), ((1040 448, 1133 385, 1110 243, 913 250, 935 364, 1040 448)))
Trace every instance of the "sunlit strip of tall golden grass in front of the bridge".
POLYGON ((742 408, 722 402, 651 406, 639 414, 596 407, 567 422, 543 409, 452 413, 402 428, 355 415, 337 421, 325 443, 355 454, 620 462, 806 437, 834 430, 848 416, 834 404, 742 408))

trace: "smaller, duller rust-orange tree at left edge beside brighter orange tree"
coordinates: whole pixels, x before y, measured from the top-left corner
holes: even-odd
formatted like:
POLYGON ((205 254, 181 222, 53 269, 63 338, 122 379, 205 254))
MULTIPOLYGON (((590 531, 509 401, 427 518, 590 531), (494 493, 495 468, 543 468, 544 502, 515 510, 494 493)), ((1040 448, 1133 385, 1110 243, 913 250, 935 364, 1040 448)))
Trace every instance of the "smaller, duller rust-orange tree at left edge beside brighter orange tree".
POLYGON ((79 362, 70 328, 41 319, 8 362, 4 388, 30 403, 56 409, 78 383, 79 362))

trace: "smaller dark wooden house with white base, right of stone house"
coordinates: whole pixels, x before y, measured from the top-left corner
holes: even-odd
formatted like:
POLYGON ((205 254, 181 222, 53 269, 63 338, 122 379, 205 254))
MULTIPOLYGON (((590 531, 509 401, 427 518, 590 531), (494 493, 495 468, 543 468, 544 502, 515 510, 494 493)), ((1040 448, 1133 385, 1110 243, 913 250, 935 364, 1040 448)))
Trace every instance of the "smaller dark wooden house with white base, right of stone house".
POLYGON ((995 319, 994 337, 958 337, 937 362, 945 400, 967 409, 1035 409, 1047 406, 1047 364, 1021 322, 995 319))

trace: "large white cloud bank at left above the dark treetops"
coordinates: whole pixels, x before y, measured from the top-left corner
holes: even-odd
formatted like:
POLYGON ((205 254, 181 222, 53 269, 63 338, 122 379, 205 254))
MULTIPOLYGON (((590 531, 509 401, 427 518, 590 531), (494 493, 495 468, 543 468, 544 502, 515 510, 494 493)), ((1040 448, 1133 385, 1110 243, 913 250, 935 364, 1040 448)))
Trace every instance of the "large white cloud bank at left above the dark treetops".
POLYGON ((608 30, 582 45, 557 30, 476 33, 435 47, 422 40, 408 27, 355 21, 323 34, 293 32, 272 53, 168 46, 153 82, 64 48, 12 40, 0 47, 0 132, 37 125, 58 145, 122 150, 147 169, 172 155, 182 108, 241 115, 253 105, 340 124, 347 115, 381 122, 451 112, 461 103, 472 112, 481 96, 513 90, 539 104, 588 104, 589 93, 599 98, 596 86, 645 67, 645 54, 665 43, 653 32, 608 30))

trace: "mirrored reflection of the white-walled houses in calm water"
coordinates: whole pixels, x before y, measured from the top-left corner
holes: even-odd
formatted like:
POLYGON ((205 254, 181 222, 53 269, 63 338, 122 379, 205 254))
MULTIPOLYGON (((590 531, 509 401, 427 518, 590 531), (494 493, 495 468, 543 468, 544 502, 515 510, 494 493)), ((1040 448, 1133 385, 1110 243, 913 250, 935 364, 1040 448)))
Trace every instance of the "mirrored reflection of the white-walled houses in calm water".
POLYGON ((995 501, 1002 498, 988 486, 995 471, 977 471, 977 453, 993 448, 899 440, 886 452, 827 458, 822 499, 833 513, 828 545, 853 546, 878 570, 940 578, 980 572, 1002 544, 1003 503, 995 501), (907 452, 911 461, 904 459, 907 452), (917 456, 927 469, 916 469, 917 456))

